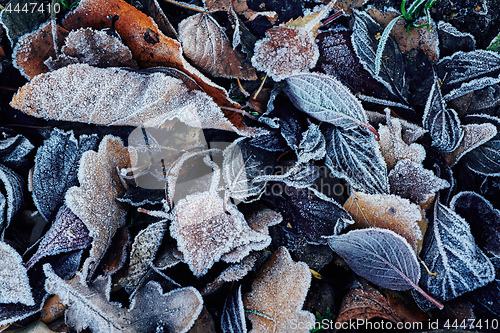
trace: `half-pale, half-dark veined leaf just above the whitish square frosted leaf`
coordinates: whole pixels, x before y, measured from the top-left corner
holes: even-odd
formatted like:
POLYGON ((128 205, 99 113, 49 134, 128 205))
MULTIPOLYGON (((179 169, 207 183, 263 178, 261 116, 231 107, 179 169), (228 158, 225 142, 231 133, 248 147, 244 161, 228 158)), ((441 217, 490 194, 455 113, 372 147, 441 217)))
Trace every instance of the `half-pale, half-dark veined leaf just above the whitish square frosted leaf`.
POLYGON ((231 198, 246 202, 259 197, 266 181, 256 177, 272 173, 272 153, 252 147, 248 140, 240 138, 224 150, 223 156, 222 176, 231 198))

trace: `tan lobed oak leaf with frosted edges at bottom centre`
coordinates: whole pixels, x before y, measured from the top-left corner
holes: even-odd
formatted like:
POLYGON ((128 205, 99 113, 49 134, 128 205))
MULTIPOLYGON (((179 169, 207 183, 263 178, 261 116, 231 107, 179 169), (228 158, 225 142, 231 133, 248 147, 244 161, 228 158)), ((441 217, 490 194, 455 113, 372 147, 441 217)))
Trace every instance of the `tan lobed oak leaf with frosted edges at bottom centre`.
POLYGON ((294 263, 285 247, 276 250, 253 280, 252 291, 243 297, 246 310, 268 317, 247 312, 253 327, 250 332, 309 332, 314 315, 302 310, 302 306, 310 285, 309 267, 303 262, 294 263), (292 327, 292 322, 299 323, 302 329, 292 327))

